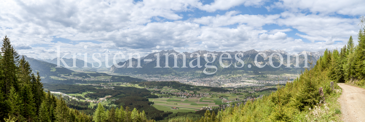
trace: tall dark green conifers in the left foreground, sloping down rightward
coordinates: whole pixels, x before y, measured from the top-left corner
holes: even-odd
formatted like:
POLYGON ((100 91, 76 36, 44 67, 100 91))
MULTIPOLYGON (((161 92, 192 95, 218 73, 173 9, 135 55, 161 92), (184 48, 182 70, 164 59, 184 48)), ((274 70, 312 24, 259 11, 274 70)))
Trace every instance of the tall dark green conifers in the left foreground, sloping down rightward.
POLYGON ((62 97, 45 93, 39 72, 32 73, 25 57, 20 57, 4 37, 0 55, 0 121, 6 122, 149 122, 145 112, 136 109, 104 110, 100 105, 94 117, 67 107, 62 97), (120 114, 119 114, 120 113, 120 114))

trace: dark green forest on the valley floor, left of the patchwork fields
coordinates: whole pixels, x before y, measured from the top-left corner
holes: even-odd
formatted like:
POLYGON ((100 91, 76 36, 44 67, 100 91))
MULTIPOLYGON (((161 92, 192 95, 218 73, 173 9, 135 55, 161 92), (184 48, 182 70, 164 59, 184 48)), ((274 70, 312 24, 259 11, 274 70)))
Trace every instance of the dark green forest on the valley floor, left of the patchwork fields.
MULTIPOLYGON (((149 102, 148 98, 157 98, 157 95, 151 94, 147 89, 140 89, 135 87, 113 86, 114 89, 96 89, 92 85, 66 85, 66 84, 45 84, 45 89, 51 91, 60 91, 62 93, 82 93, 91 91, 94 93, 85 94, 84 97, 99 99, 107 95, 111 95, 107 99, 116 99, 114 103, 120 108, 136 108, 139 111, 144 111, 147 119, 163 120, 172 112, 164 112, 150 106, 153 102, 149 102)), ((75 101, 76 102, 76 101, 75 101)), ((80 108, 78 110, 85 111, 85 113, 92 114, 95 109, 89 109, 87 106, 80 103, 67 102, 69 107, 80 108), (90 112, 91 111, 91 112, 90 112)), ((111 108, 108 108, 111 109, 111 108)), ((94 114, 95 115, 95 114, 94 114)))

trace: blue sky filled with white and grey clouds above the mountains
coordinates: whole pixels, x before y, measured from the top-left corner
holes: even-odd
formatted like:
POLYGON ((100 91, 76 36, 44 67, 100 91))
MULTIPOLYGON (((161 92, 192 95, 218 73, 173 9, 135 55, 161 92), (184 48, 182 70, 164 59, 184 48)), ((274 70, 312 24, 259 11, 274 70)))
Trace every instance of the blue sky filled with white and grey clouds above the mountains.
POLYGON ((364 0, 0 0, 0 37, 7 35, 19 54, 42 59, 56 58, 57 46, 61 57, 317 52, 357 40, 364 6, 364 0))

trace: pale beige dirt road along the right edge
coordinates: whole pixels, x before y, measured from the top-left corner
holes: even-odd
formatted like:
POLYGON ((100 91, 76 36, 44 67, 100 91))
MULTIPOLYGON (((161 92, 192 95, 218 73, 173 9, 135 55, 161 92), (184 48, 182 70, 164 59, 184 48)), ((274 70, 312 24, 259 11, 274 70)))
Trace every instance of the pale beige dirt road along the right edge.
POLYGON ((341 103, 342 120, 365 122, 365 89, 343 83, 337 85, 342 88, 342 95, 338 99, 341 103))

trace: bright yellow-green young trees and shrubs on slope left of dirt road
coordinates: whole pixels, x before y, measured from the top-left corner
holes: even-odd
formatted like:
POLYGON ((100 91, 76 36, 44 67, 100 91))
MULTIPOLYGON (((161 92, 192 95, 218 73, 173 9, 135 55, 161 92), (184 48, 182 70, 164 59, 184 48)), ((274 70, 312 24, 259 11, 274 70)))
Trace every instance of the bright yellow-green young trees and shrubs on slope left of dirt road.
POLYGON ((346 47, 341 52, 326 50, 315 66, 310 60, 310 68, 305 69, 300 78, 287 82, 285 86, 277 86, 278 90, 271 95, 247 101, 245 105, 228 107, 218 112, 217 119, 209 119, 211 115, 207 114, 199 122, 337 121, 337 114, 341 112, 335 109, 339 107, 323 102, 337 105, 335 99, 339 94, 331 90, 330 82, 345 80, 348 62, 343 57, 347 57, 346 52, 346 47), (320 88, 323 96, 319 93, 320 88))

